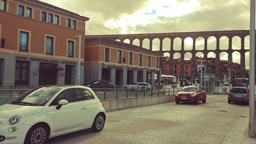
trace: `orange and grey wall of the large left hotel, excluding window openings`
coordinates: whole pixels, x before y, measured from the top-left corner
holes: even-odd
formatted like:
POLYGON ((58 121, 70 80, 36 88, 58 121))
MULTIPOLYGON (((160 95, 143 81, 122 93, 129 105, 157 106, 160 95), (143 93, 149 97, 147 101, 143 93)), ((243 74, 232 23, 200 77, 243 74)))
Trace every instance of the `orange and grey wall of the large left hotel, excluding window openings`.
MULTIPOLYGON (((72 66, 69 78, 71 84, 78 81, 78 45, 81 36, 85 39, 85 23, 89 18, 73 12, 60 9, 41 1, 15 1, 8 0, 6 10, 0 10, 0 39, 4 39, 4 47, 0 48, 0 83, 2 85, 15 85, 17 61, 29 64, 28 82, 26 85, 39 85, 40 64, 58 64, 56 69, 56 83, 64 84, 67 76, 66 66, 72 66), (19 5, 24 7, 24 15, 18 15, 19 5), (26 9, 31 8, 31 18, 26 17, 26 9), (46 21, 42 21, 42 12, 46 12, 46 21), (48 23, 48 15, 59 16, 59 25, 48 23), (76 28, 67 28, 67 19, 76 21, 76 28), (29 33, 28 50, 20 50, 20 31, 29 33), (45 54, 46 37, 53 37, 53 54, 45 54), (74 42, 73 57, 67 56, 68 41, 74 42)), ((71 23, 72 26, 72 23, 71 23)), ((84 42, 81 40, 81 42, 84 42)), ((81 53, 85 53, 81 48, 81 53)), ((83 84, 84 55, 80 55, 80 82, 83 84)), ((42 72, 41 72, 42 73, 42 72)))

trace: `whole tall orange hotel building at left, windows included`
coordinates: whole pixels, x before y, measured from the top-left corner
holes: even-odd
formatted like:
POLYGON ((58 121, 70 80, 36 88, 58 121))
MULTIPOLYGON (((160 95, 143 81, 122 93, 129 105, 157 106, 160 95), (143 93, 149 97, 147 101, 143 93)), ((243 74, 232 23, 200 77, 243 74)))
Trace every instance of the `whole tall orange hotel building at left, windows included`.
MULTIPOLYGON (((37 0, 1 0, 0 84, 75 84, 78 45, 89 18, 37 0)), ((83 42, 83 41, 82 41, 83 42)), ((83 74, 84 48, 81 48, 83 74)), ((80 83, 83 83, 81 81, 80 83)))

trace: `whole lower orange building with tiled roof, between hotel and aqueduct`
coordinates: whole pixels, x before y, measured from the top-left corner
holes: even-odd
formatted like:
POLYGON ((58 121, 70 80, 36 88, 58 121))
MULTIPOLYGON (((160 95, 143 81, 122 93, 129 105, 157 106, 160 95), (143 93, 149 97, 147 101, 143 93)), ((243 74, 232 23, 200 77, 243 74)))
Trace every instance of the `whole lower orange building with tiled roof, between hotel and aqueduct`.
POLYGON ((154 86, 155 75, 158 80, 161 75, 162 53, 100 37, 86 37, 85 50, 85 83, 108 80, 116 86, 135 82, 154 86))

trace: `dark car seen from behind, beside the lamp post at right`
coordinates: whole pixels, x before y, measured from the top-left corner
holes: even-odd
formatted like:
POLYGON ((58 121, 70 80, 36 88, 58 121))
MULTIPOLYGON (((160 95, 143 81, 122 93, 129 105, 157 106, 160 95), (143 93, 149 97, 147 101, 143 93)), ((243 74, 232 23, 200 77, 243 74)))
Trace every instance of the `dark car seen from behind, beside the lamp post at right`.
POLYGON ((249 89, 246 87, 232 87, 227 93, 227 103, 246 102, 249 104, 249 89))

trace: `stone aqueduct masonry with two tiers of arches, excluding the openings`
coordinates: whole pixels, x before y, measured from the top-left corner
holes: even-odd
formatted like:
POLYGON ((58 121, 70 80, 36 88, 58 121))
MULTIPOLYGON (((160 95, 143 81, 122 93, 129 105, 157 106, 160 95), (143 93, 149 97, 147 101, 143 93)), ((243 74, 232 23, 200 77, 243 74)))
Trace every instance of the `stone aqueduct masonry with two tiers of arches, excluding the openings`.
MULTIPOLYGON (((104 37, 112 40, 120 40, 121 42, 124 42, 124 40, 129 39, 129 43, 132 44, 133 40, 139 39, 140 42, 140 47, 143 48, 143 39, 149 39, 149 49, 152 50, 152 41, 153 39, 159 39, 159 51, 160 53, 170 53, 170 69, 169 69, 169 74, 173 75, 173 55, 174 53, 180 53, 181 55, 181 74, 180 78, 184 78, 184 54, 187 52, 192 53, 192 67, 196 67, 195 64, 195 57, 196 53, 201 52, 203 53, 203 60, 206 60, 207 58, 207 53, 210 53, 214 51, 216 53, 216 72, 220 72, 220 64, 219 64, 219 54, 222 52, 228 53, 228 66, 227 69, 231 69, 231 77, 232 75, 232 60, 233 56, 232 53, 237 51, 238 53, 241 54, 240 58, 240 76, 245 77, 245 53, 248 50, 244 49, 244 39, 246 36, 249 36, 249 30, 234 30, 234 31, 198 31, 198 32, 176 32, 176 33, 154 33, 154 34, 108 34, 108 35, 86 35, 86 38, 88 37, 104 37), (220 37, 227 37, 228 38, 228 48, 227 50, 220 50, 219 49, 219 39, 220 37), (174 50, 173 49, 173 39, 176 38, 181 39, 181 50, 174 50), (193 39, 192 42, 192 50, 184 50, 184 39, 187 37, 191 37, 193 39), (195 49, 195 39, 198 37, 203 37, 205 39, 205 45, 203 50, 196 50, 195 49), (217 44, 215 50, 208 50, 207 49, 207 39, 208 37, 215 37, 217 40, 217 44), (240 50, 233 50, 232 49, 232 39, 233 37, 240 37, 241 38, 241 49, 240 50), (170 41, 170 50, 163 50, 163 39, 169 38, 171 39, 170 41)), ((196 69, 192 69, 192 75, 196 74, 196 69)))

